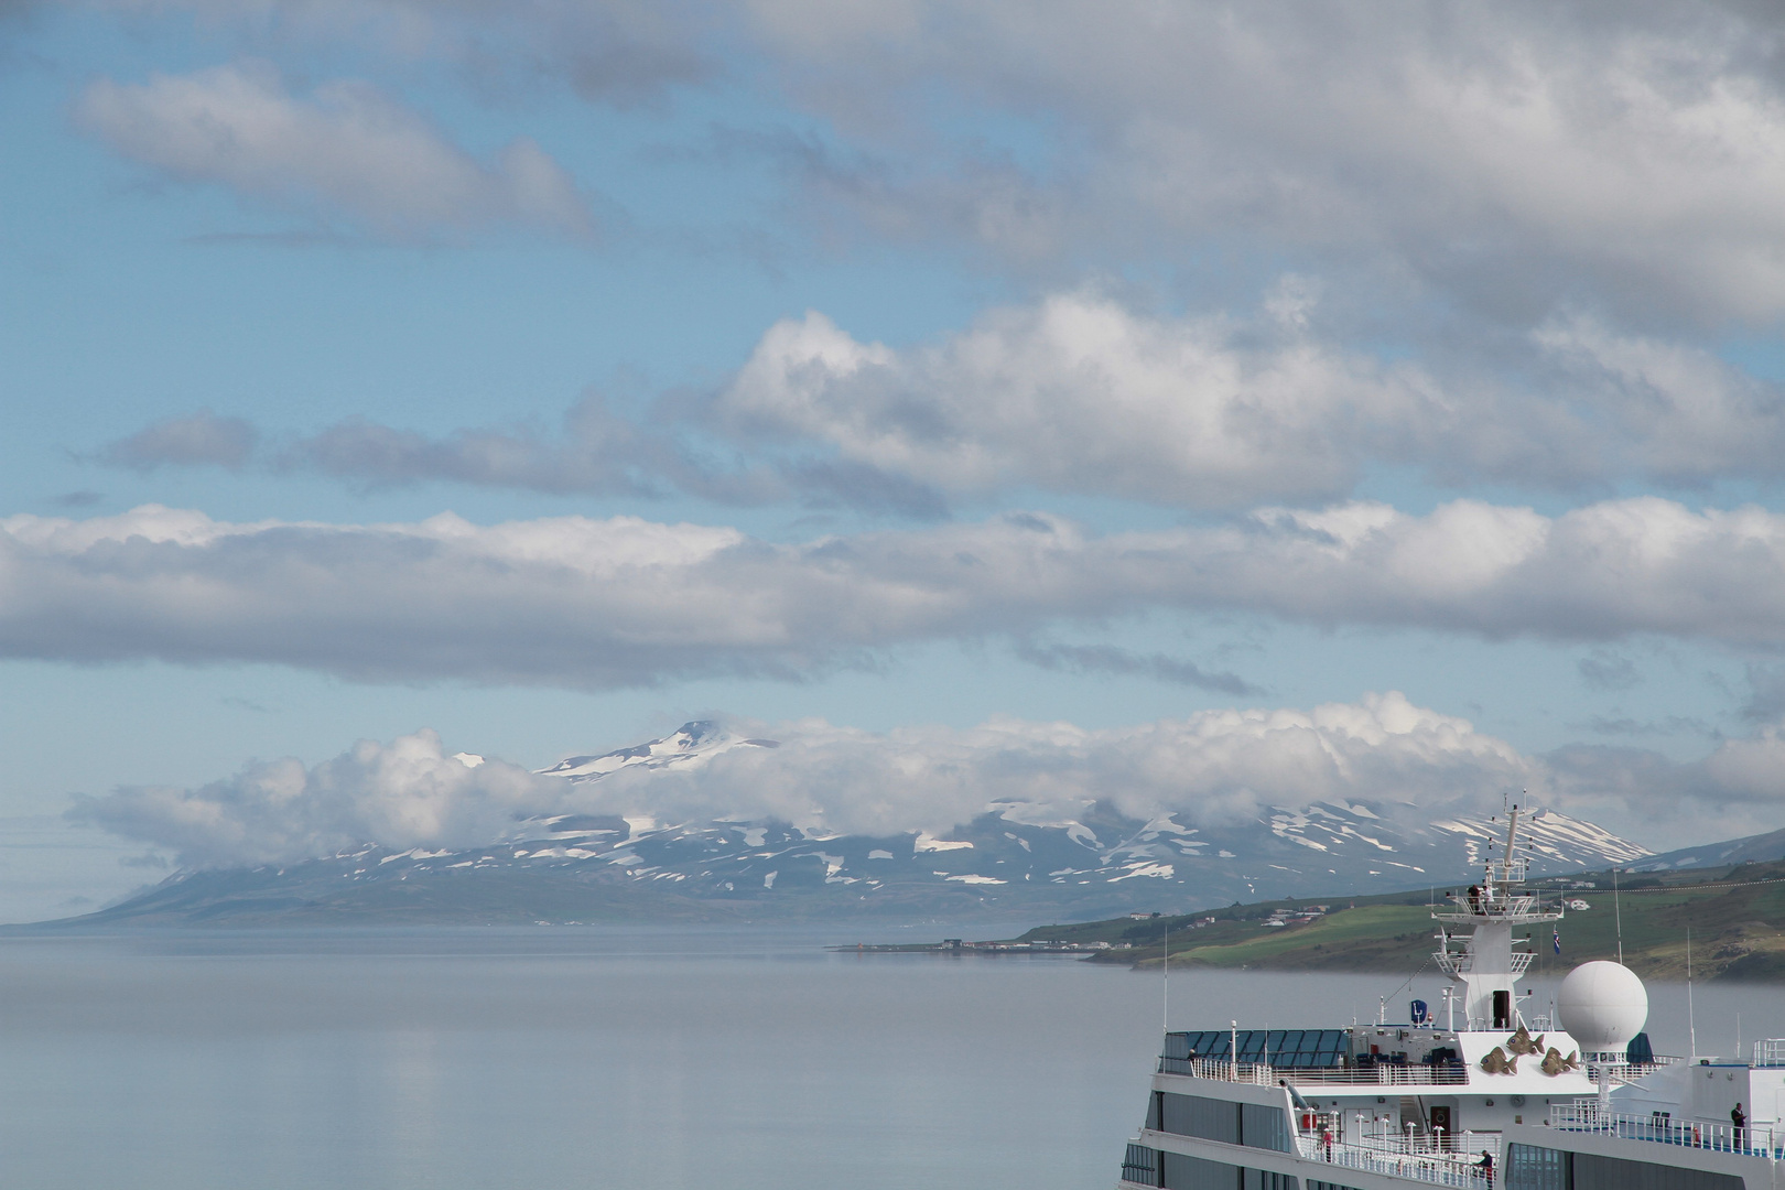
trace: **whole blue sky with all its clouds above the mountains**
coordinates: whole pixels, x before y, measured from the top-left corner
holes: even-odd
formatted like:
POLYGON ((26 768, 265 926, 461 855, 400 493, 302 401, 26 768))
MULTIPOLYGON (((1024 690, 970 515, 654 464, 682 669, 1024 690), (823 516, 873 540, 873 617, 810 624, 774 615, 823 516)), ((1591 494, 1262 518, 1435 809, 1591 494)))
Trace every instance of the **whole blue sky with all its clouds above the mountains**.
POLYGON ((0 4, 0 919, 689 719, 803 746, 664 814, 1785 826, 1781 37, 0 4))

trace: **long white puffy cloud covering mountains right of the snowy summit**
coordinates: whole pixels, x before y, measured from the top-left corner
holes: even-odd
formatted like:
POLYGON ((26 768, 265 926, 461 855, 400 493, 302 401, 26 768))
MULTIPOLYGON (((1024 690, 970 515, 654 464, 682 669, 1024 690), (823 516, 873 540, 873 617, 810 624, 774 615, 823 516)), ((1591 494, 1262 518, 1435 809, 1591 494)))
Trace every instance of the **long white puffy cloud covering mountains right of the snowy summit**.
MULTIPOLYGON (((739 728, 744 730, 744 728, 739 728)), ((1189 719, 1085 730, 992 719, 978 728, 891 733, 823 721, 748 724, 780 748, 737 748, 703 767, 621 771, 589 787, 614 814, 648 805, 671 819, 778 817, 816 830, 944 831, 992 801, 1028 817, 1075 819, 1092 801, 1194 826, 1255 822, 1269 806, 1417 803, 1423 814, 1498 805, 1539 765, 1467 721, 1403 696, 1301 710, 1212 710, 1189 719)))

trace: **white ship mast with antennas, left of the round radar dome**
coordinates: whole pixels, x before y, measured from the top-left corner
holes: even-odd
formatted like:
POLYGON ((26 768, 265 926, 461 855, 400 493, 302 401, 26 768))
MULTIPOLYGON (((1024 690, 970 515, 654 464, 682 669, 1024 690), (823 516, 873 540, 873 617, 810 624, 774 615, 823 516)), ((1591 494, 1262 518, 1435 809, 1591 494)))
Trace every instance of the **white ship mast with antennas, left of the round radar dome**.
POLYGON ((1539 905, 1535 896, 1524 892, 1526 862, 1514 851, 1517 839, 1519 808, 1512 806, 1501 858, 1496 860, 1489 851, 1482 883, 1462 894, 1448 894, 1449 906, 1432 913, 1433 921, 1471 928, 1460 951, 1451 949, 1451 933, 1440 930, 1439 951, 1432 956, 1460 985, 1467 1029, 1510 1029, 1521 1024, 1514 985, 1532 965, 1533 954, 1517 949, 1512 931, 1562 917, 1560 908, 1539 905))

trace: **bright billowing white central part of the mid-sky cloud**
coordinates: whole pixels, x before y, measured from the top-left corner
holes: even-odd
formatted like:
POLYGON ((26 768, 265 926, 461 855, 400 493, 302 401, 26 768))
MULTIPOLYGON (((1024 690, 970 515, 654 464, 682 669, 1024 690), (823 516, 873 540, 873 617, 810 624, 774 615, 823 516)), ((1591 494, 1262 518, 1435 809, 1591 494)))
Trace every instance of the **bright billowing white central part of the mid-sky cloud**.
POLYGON ((1416 368, 1094 294, 989 314, 912 351, 818 312, 782 321, 718 400, 739 432, 801 435, 950 492, 1037 485, 1235 507, 1349 491, 1371 453, 1446 421, 1416 368))

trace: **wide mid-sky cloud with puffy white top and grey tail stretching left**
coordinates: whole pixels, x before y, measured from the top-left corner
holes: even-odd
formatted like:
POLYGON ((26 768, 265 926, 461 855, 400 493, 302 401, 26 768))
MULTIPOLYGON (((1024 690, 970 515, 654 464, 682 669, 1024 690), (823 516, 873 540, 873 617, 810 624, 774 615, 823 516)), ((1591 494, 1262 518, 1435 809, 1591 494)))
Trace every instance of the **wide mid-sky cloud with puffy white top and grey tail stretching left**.
MULTIPOLYGON (((1785 391, 1708 351, 1571 316, 1528 337, 1523 375, 1455 362, 1437 373, 1323 339, 1308 328, 1314 302, 1299 277, 1251 319, 1151 316, 1076 291, 905 350, 809 312, 771 326, 718 391, 666 394, 635 417, 591 396, 557 435, 355 419, 295 442, 277 466, 368 489, 680 489, 917 519, 1025 489, 1189 508, 1333 500, 1382 464, 1451 487, 1551 491, 1785 478, 1785 391)), ((173 460, 143 442, 186 425, 111 453, 173 460)))

